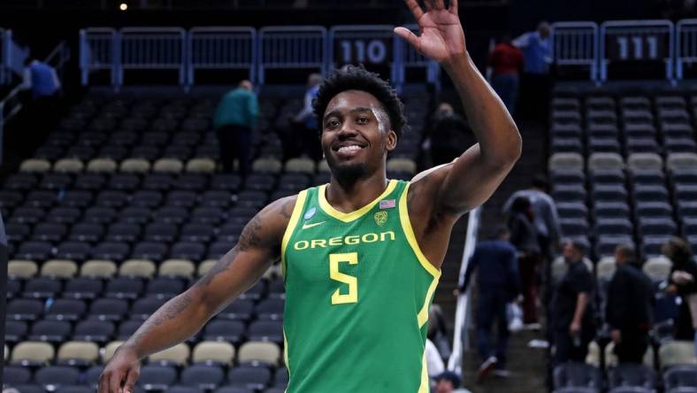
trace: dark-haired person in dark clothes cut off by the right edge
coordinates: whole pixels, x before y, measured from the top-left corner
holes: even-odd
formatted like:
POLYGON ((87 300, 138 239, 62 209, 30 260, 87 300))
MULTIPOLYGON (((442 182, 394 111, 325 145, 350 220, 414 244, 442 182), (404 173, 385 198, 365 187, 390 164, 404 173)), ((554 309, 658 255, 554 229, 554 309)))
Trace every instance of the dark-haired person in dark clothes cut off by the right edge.
POLYGON ((673 264, 666 292, 682 298, 675 338, 694 340, 697 354, 697 330, 694 328, 697 320, 697 263, 693 260, 690 244, 679 237, 670 238, 661 251, 673 264))

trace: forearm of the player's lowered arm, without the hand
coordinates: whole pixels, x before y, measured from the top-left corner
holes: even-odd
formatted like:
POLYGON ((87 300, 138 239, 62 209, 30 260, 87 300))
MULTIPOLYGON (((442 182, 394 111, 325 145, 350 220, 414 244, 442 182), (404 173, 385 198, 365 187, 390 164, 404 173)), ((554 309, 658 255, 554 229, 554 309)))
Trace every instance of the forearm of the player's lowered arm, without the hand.
POLYGON ((138 358, 144 358, 185 341, 211 317, 200 303, 201 296, 195 288, 172 297, 150 315, 123 346, 134 350, 138 358))

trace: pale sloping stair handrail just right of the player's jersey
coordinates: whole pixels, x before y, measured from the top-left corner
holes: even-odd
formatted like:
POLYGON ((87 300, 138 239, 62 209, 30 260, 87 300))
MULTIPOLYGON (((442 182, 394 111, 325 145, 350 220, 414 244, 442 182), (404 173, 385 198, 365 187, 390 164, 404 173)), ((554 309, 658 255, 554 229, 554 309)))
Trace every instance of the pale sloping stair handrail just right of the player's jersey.
MULTIPOLYGON (((464 240, 463 259, 460 264, 460 277, 458 286, 462 287, 464 282, 464 274, 467 272, 467 266, 470 263, 470 258, 474 253, 474 248, 477 246, 477 233, 479 232, 479 215, 481 206, 473 209, 467 220, 467 235, 464 240)), ((470 286, 471 287, 471 286, 470 286)), ((448 370, 456 374, 462 374, 463 351, 470 347, 470 340, 467 335, 467 329, 470 325, 470 289, 465 293, 461 293, 457 297, 457 306, 455 312, 455 332, 453 335, 453 351, 448 358, 448 370)))

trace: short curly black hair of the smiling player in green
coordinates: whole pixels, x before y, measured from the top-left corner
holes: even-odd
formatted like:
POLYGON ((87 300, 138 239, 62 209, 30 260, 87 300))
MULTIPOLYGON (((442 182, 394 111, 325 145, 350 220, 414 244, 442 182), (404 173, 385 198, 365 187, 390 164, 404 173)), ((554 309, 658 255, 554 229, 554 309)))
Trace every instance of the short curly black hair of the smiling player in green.
POLYGON ((318 119, 320 135, 324 129, 322 118, 325 116, 326 106, 334 96, 346 90, 361 90, 375 96, 387 112, 390 127, 397 138, 402 136, 402 130, 407 126, 402 100, 387 81, 380 78, 377 73, 366 70, 363 65, 348 65, 341 70, 335 70, 319 85, 317 97, 312 102, 312 109, 318 119))

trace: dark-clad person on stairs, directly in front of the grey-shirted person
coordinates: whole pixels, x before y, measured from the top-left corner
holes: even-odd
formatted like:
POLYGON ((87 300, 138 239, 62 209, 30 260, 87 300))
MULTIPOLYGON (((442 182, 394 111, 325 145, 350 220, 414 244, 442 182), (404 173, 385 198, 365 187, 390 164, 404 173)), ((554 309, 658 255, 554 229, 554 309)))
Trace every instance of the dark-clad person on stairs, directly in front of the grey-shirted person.
POLYGON ((540 243, 534 224, 534 213, 530 199, 518 196, 511 204, 510 243, 518 251, 520 281, 523 283, 523 322, 537 324, 537 269, 540 265, 540 243))

